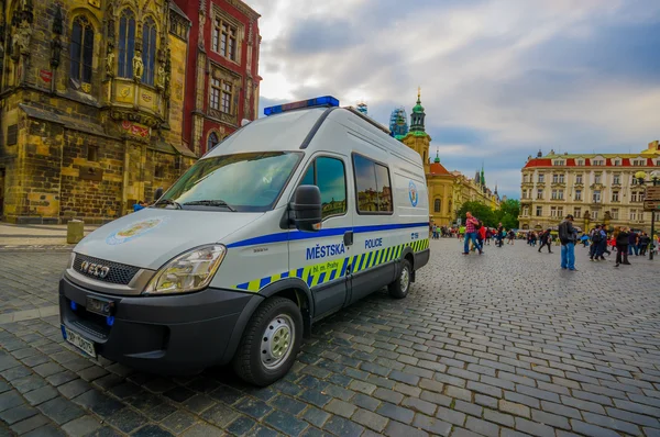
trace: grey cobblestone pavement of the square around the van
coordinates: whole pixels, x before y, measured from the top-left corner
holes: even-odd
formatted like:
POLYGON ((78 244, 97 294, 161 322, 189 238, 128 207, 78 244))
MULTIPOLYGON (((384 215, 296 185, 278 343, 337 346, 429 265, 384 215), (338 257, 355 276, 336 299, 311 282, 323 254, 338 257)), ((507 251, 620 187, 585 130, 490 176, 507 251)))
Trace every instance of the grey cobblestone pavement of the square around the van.
POLYGON ((68 254, 0 251, 2 311, 32 311, 0 322, 0 435, 660 435, 660 259, 615 269, 578 248, 570 272, 521 243, 431 250, 407 299, 317 325, 266 389, 227 368, 169 379, 82 358, 33 311, 55 302, 68 254))

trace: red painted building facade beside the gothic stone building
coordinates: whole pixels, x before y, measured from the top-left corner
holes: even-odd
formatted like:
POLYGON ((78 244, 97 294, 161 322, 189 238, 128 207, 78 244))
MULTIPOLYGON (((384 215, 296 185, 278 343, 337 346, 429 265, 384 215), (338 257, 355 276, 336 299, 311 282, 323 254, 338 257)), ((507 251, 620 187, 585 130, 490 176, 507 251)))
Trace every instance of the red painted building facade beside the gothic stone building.
POLYGON ((184 138, 202 156, 258 116, 261 15, 240 0, 175 1, 191 21, 184 138))

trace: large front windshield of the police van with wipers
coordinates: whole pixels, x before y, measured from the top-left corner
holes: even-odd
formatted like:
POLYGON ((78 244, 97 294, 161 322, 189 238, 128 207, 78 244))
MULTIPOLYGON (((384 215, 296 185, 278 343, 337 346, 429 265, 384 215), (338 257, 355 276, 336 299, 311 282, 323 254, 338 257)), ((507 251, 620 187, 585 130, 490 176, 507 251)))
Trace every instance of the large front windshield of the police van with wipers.
POLYGON ((268 211, 300 156, 260 152, 201 159, 167 190, 156 208, 268 211))

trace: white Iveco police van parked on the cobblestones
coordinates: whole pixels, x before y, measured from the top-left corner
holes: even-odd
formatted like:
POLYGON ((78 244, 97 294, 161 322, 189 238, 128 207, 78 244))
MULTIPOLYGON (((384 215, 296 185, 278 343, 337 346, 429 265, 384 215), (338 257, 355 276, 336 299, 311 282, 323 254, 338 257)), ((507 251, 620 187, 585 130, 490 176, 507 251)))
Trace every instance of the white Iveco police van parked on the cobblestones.
POLYGON ((311 324, 429 259, 420 156, 332 97, 267 108, 151 208, 74 249, 62 332, 90 356, 158 373, 232 362, 257 385, 311 324))

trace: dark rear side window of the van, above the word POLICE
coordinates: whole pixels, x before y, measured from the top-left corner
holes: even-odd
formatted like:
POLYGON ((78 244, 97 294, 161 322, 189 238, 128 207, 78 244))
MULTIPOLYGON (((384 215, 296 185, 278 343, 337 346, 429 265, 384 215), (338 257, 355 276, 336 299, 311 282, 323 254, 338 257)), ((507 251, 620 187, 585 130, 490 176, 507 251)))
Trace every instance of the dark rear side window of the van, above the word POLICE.
POLYGON ((389 169, 361 155, 353 155, 358 213, 392 214, 389 169))

